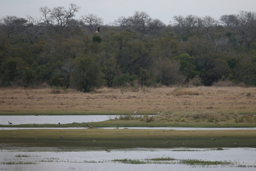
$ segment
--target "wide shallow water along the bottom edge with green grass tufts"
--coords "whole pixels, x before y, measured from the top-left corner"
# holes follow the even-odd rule
[[[98,151],[41,151],[41,149],[1,150],[0,170],[94,170],[94,171],[156,171],[156,170],[188,170],[189,171],[254,171],[256,149],[228,148],[214,149],[113,149],[109,153]],[[171,157],[177,160],[198,159],[207,161],[231,161],[231,165],[187,165],[187,164],[122,164],[114,159],[146,160],[152,158]],[[14,162],[13,164],[6,164]],[[21,164],[19,164],[21,163]],[[239,164],[254,167],[237,167]]]

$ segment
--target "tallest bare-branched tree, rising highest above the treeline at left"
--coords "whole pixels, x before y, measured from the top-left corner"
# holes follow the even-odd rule
[[[75,17],[75,12],[79,11],[79,6],[70,4],[68,9],[64,7],[40,7],[40,12],[43,15],[42,20],[54,30],[62,33],[63,29],[69,28],[69,21]]]

